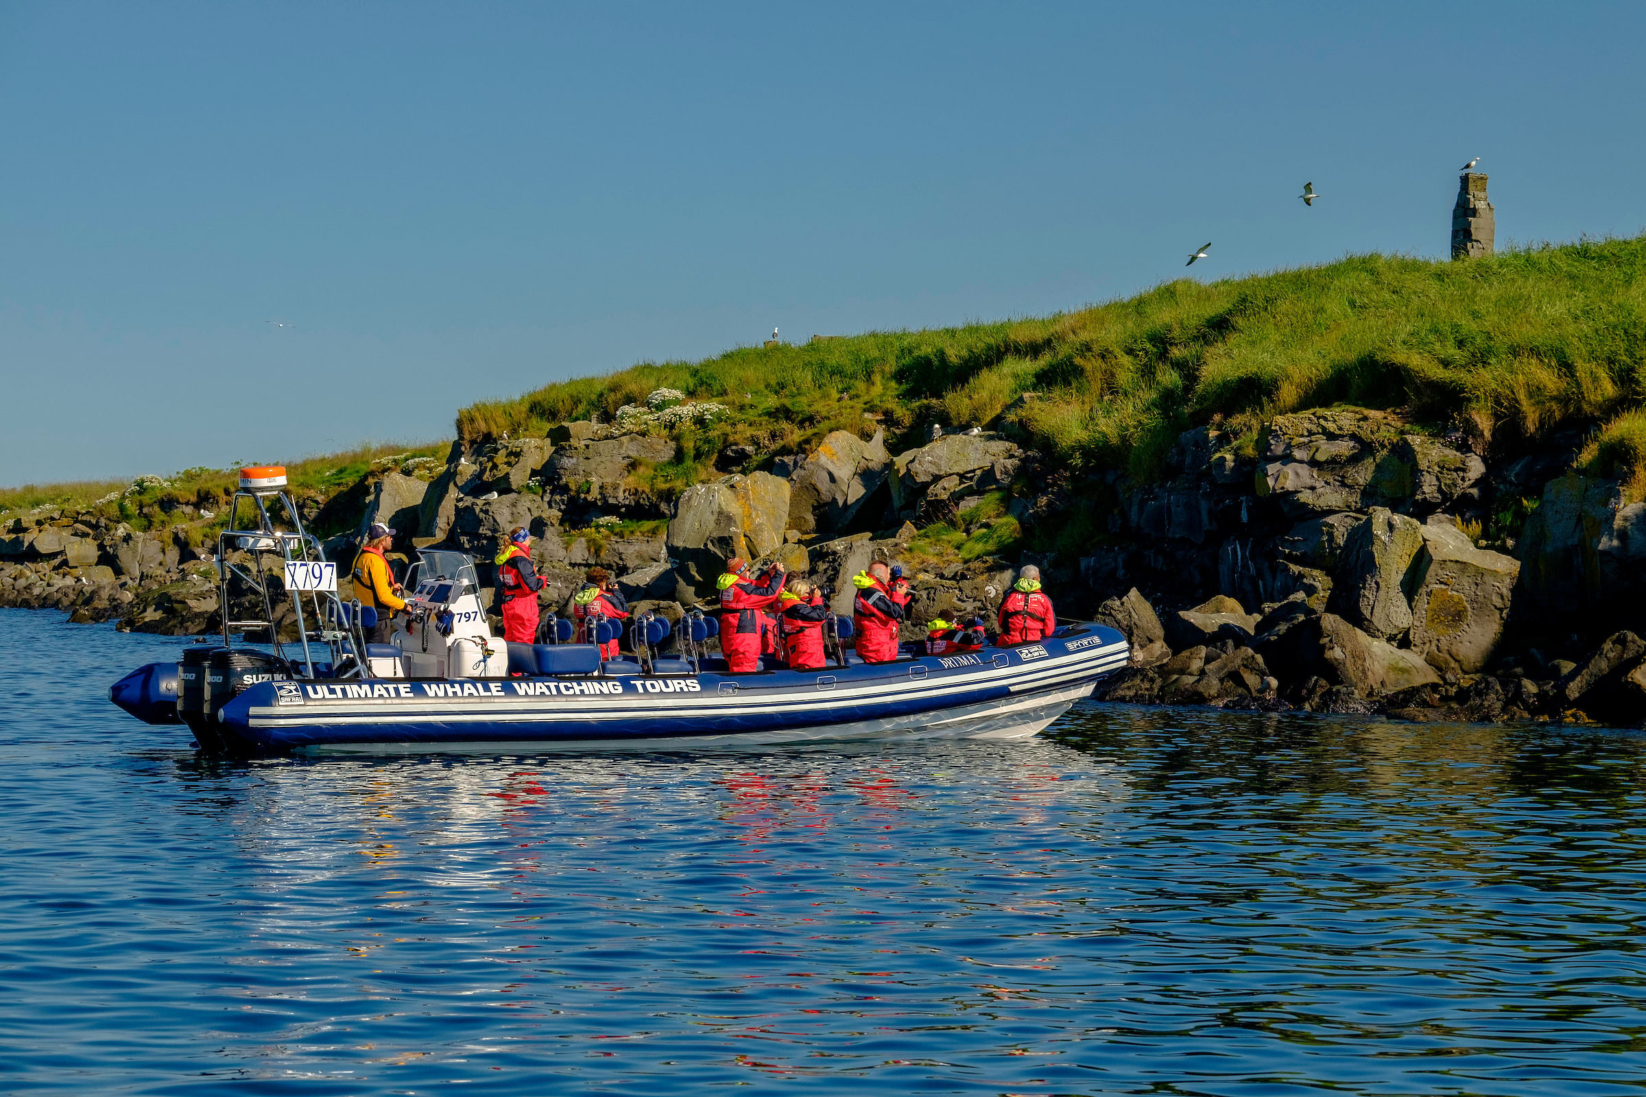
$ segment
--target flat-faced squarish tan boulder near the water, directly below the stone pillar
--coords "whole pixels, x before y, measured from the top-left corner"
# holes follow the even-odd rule
[[[1422,526],[1414,564],[1411,648],[1447,671],[1472,674],[1503,636],[1521,564],[1478,549],[1444,516]]]

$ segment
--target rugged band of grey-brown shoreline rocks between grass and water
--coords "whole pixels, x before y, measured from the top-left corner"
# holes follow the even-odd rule
[[[1187,431],[1164,479],[1134,480],[976,429],[899,449],[866,418],[802,452],[739,447],[714,462],[728,472],[660,487],[653,472],[681,442],[670,401],[649,406],[660,411],[453,444],[444,464],[390,462],[300,505],[356,531],[387,521],[403,556],[467,551],[487,581],[502,538],[527,526],[556,610],[601,564],[632,600],[678,617],[736,554],[810,572],[849,612],[851,574],[902,562],[907,638],[932,617],[989,613],[1011,567],[1032,561],[1063,615],[1132,640],[1114,699],[1646,717],[1631,632],[1646,610],[1646,505],[1572,470],[1579,434],[1493,454],[1399,411],[1333,406],[1256,434]],[[13,515],[0,602],[209,632],[216,518],[201,500],[137,521],[109,505]],[[351,538],[328,549],[347,562]]]

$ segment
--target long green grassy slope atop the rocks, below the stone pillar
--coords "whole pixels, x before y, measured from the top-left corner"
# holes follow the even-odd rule
[[[611,419],[658,386],[728,405],[693,449],[759,439],[767,454],[828,429],[930,423],[1016,431],[1075,467],[1155,474],[1207,423],[1258,442],[1277,413],[1407,408],[1485,437],[1536,437],[1646,398],[1646,237],[1467,263],[1358,255],[1042,319],[742,347],[546,385],[458,413],[464,439]],[[872,416],[864,419],[864,414]],[[775,429],[782,428],[782,429]]]

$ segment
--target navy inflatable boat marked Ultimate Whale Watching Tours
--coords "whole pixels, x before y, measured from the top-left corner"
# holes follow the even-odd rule
[[[275,521],[273,500],[285,503],[285,523]],[[255,516],[245,530],[234,528],[242,510]],[[716,620],[700,612],[680,622],[642,613],[625,630],[594,618],[583,635],[550,617],[542,630],[550,643],[507,643],[491,633],[474,562],[433,549],[407,576],[408,613],[393,643],[372,645],[372,610],[339,600],[336,564],[303,533],[283,469],[242,472],[229,526],[217,554],[221,646],[188,648],[179,663],[140,668],[109,691],[142,720],[186,724],[207,752],[1017,738],[1090,696],[1129,656],[1119,632],[1073,622],[1035,643],[864,663],[849,645],[851,620],[833,618],[825,623],[830,666],[792,671],[767,660],[734,674],[711,651]],[[275,636],[275,605],[285,602],[295,641],[234,643],[258,630]],[[230,620],[229,607],[245,605],[262,605],[263,617]],[[614,638],[627,638],[634,655],[602,660],[597,643]]]

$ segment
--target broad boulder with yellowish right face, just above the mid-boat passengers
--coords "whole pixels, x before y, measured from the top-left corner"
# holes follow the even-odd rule
[[[668,523],[668,554],[677,561],[681,589],[690,589],[693,599],[709,597],[729,558],[754,562],[775,553],[787,521],[788,480],[769,472],[686,488]]]

